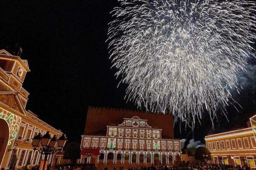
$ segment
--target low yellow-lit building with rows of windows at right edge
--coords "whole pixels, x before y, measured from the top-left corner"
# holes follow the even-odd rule
[[[211,163],[233,166],[250,165],[255,169],[256,142],[255,116],[247,122],[248,128],[209,135],[206,146],[211,153]]]

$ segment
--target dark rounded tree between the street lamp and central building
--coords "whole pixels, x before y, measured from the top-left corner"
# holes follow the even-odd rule
[[[71,142],[66,146],[63,159],[70,159],[71,163],[76,163],[80,159],[81,149],[79,143]]]

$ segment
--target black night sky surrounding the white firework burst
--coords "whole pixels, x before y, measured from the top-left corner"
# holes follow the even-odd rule
[[[30,93],[26,109],[49,125],[61,129],[68,140],[81,142],[88,106],[136,109],[124,100],[125,85],[119,86],[108,59],[109,14],[117,0],[1,1],[0,49],[18,43],[22,59],[31,72],[23,87]],[[229,121],[220,115],[211,129],[205,116],[194,134],[175,126],[175,136],[203,141],[210,132],[245,127],[256,113],[256,59],[248,72],[239,74],[240,95],[233,92],[237,111],[227,108]],[[216,120],[215,120],[216,121]],[[97,125],[95,125],[97,126]],[[194,136],[193,136],[194,135]]]

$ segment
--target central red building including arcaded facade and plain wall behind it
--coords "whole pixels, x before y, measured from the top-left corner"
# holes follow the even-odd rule
[[[173,117],[136,110],[89,107],[81,149],[79,162],[98,166],[173,165],[181,160]]]

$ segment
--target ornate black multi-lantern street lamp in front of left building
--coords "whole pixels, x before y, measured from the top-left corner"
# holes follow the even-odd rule
[[[51,138],[49,131],[47,131],[46,134],[43,135],[42,137],[41,137],[41,134],[38,133],[38,135],[36,135],[32,139],[32,146],[34,147],[34,150],[38,150],[40,154],[45,155],[43,170],[45,170],[45,163],[47,160],[47,156],[57,151],[62,151],[67,141],[68,140],[66,140],[66,136],[64,134],[60,136],[59,139],[57,139],[56,135],[54,135]],[[56,149],[57,144],[58,144],[58,149]],[[40,148],[37,149],[38,147]]]

